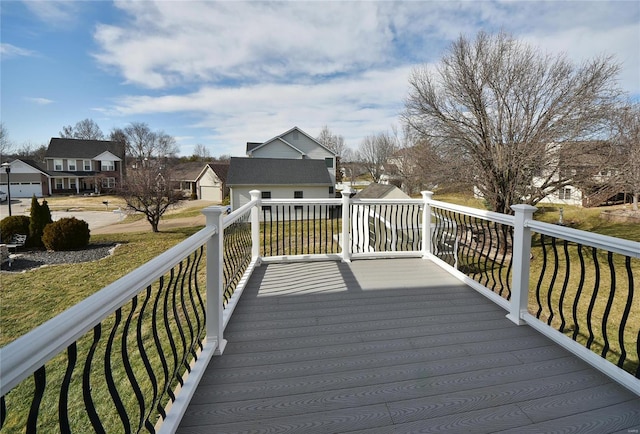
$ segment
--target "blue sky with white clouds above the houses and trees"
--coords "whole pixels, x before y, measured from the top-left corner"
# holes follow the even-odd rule
[[[91,118],[174,136],[181,155],[244,155],[248,141],[324,125],[357,148],[399,126],[408,77],[459,35],[506,31],[582,62],[611,54],[640,99],[640,2],[7,1],[0,117],[48,144]]]

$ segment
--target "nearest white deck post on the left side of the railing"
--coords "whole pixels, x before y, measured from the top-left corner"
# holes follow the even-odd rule
[[[215,355],[224,352],[227,341],[223,338],[223,267],[224,267],[224,212],[222,206],[202,210],[207,226],[217,226],[218,232],[207,241],[207,341],[216,346]]]

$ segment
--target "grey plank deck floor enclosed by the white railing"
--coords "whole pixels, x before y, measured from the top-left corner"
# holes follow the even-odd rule
[[[263,265],[179,433],[638,433],[640,397],[429,261]]]

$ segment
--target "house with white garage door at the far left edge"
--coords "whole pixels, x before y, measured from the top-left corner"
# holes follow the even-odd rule
[[[9,162],[11,197],[43,197],[51,194],[50,175],[33,160],[15,159]],[[0,190],[7,193],[7,173],[0,169]]]

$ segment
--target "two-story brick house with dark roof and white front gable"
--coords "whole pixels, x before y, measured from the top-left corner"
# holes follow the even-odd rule
[[[124,145],[110,140],[54,137],[45,154],[51,193],[100,193],[120,184],[125,171]]]

